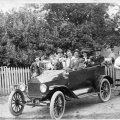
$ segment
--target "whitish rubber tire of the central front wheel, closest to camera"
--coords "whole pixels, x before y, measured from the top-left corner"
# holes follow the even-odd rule
[[[55,99],[56,99],[56,97],[57,97],[58,95],[62,95],[63,100],[64,100],[64,106],[63,106],[63,113],[60,115],[59,118],[56,118],[56,117],[54,116],[54,102],[55,102]],[[52,96],[52,98],[51,98],[51,102],[50,102],[50,116],[51,116],[52,119],[54,119],[54,120],[59,120],[59,119],[62,118],[62,116],[63,116],[63,114],[64,114],[64,111],[65,111],[65,103],[66,103],[66,101],[65,101],[64,94],[63,94],[61,91],[56,91],[56,92],[53,94],[53,96]]]

